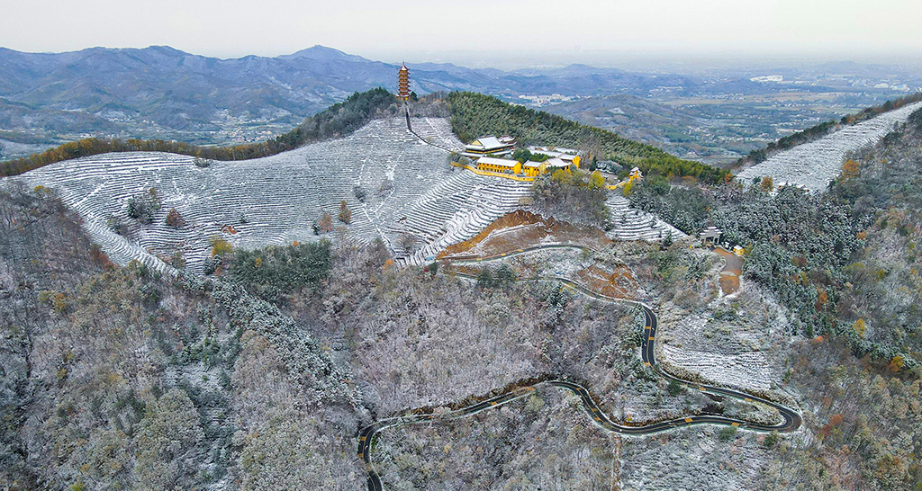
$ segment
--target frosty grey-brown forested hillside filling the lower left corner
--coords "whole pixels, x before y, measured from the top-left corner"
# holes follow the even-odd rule
[[[46,190],[0,189],[0,218],[0,488],[361,486],[358,392],[302,324],[112,264]]]

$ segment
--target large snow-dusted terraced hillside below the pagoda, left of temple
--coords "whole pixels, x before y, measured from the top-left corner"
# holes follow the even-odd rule
[[[446,120],[414,118],[412,125],[423,140],[461,147]],[[137,259],[164,271],[169,267],[158,257],[174,251],[183,252],[187,269],[200,271],[215,236],[247,249],[317,240],[313,223],[324,211],[336,217],[343,199],[352,210],[348,240],[380,238],[401,263],[420,263],[512,211],[530,185],[449,166],[445,150],[409,133],[402,118],[376,120],[349,137],[269,158],[199,168],[193,158],[173,154],[105,154],[13,181],[54,189],[113,261]],[[150,188],[162,207],[153,223],[141,225],[126,217],[128,201]],[[357,188],[365,191],[364,202]],[[185,227],[165,224],[171,208]],[[107,226],[111,216],[127,225],[124,237]],[[399,240],[405,234],[415,243]]]

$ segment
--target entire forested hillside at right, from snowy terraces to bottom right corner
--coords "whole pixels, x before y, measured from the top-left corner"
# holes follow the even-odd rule
[[[745,245],[745,278],[774,292],[791,312],[791,334],[804,338],[787,355],[785,383],[804,397],[815,439],[783,443],[766,470],[783,480],[760,487],[918,488],[920,181],[916,111],[846,160],[828,193],[770,193],[771,182],[670,187],[654,179],[635,187],[633,205],[687,232],[713,223]]]

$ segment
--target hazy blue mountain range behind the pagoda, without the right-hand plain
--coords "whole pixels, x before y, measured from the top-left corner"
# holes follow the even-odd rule
[[[585,65],[516,72],[454,64],[409,66],[420,94],[474,90],[517,99],[526,94],[645,96],[657,88],[690,95],[763,90],[748,79],[715,87],[690,76]],[[392,88],[396,68],[324,46],[275,58],[236,59],[168,46],[73,53],[0,48],[0,128],[49,140],[78,134],[175,137],[193,143],[260,139],[301,123],[354,91]]]

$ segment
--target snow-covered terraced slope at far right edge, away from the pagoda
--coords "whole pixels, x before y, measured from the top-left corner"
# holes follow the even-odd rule
[[[741,170],[737,179],[746,183],[754,178],[771,176],[775,185],[788,183],[804,186],[810,191],[822,191],[829,185],[829,181],[839,175],[847,152],[876,144],[885,134],[890,133],[895,124],[904,123],[918,109],[922,109],[922,102],[846,126],[819,140],[795,146],[775,154],[761,164]]]

